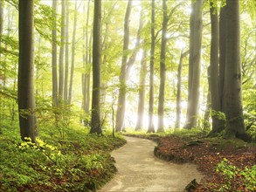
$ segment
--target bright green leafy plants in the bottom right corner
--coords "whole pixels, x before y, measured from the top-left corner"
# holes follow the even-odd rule
[[[224,159],[216,168],[216,171],[225,176],[225,185],[219,191],[254,191],[256,186],[256,165],[252,168],[237,168],[227,159]],[[240,189],[242,183],[243,189]]]

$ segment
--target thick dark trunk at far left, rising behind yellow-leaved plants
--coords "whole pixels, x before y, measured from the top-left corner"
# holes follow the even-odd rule
[[[37,119],[34,97],[34,1],[18,2],[18,112],[21,139],[36,141]]]

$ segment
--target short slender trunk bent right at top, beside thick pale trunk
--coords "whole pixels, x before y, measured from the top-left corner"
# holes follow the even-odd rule
[[[175,127],[180,127],[180,117],[181,117],[181,86],[182,86],[182,68],[183,68],[183,58],[186,57],[189,54],[189,51],[183,52],[181,51],[181,56],[179,60],[179,65],[177,68],[177,83],[176,83],[176,122]]]

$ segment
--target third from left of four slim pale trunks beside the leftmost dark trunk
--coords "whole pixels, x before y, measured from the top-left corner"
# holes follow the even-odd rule
[[[66,104],[68,104],[68,67],[69,67],[69,36],[68,36],[68,30],[69,30],[69,6],[68,6],[68,0],[66,0],[66,24],[65,24],[65,77],[64,77],[64,101]]]

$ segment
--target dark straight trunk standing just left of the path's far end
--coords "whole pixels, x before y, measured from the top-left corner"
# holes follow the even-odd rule
[[[90,133],[101,134],[100,125],[100,62],[101,62],[101,0],[94,1],[93,15],[93,101]]]

